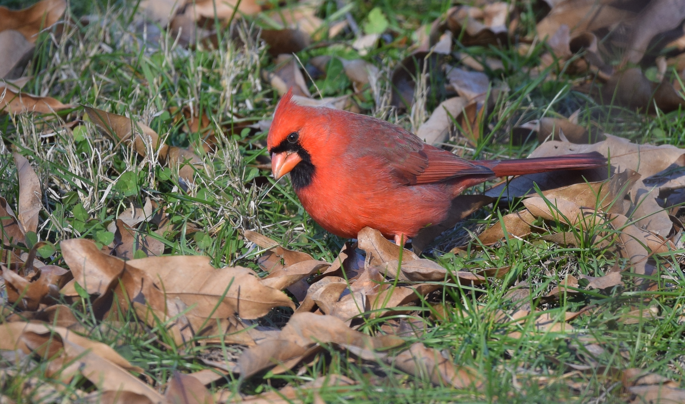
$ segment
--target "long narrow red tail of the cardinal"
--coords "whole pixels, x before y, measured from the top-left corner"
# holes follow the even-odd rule
[[[583,168],[601,167],[606,165],[606,157],[599,152],[566,154],[554,157],[534,157],[532,159],[515,160],[477,160],[476,165],[482,165],[495,172],[495,176],[517,176],[547,172],[555,170],[581,170]]]

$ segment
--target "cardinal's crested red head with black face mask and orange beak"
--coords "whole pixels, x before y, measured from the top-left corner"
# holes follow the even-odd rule
[[[308,150],[316,150],[319,133],[316,133],[316,109],[297,105],[292,90],[281,98],[266,139],[271,154],[271,172],[276,179],[290,173],[295,189],[306,187],[314,174],[314,165]]]

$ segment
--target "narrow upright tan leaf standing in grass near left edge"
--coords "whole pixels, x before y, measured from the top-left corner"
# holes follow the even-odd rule
[[[26,232],[38,230],[38,213],[42,209],[40,179],[31,163],[19,153],[12,153],[19,180],[17,218]]]

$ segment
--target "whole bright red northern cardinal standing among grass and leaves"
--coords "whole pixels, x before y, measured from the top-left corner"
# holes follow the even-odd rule
[[[302,206],[323,228],[354,238],[369,226],[406,241],[447,217],[464,189],[496,177],[606,165],[599,153],[467,161],[390,124],[280,100],[266,147],[276,179],[290,173]]]

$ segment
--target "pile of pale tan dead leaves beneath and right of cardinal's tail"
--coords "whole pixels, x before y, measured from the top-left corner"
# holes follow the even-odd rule
[[[675,250],[674,241],[679,241],[682,233],[678,212],[685,200],[678,190],[684,178],[685,150],[638,145],[606,135],[606,140],[595,144],[546,142],[531,157],[591,151],[610,159],[611,178],[604,179],[608,170],[598,168],[568,175],[555,172],[519,176],[508,185],[494,187],[486,194],[525,197],[525,209],[502,217],[482,232],[479,240],[484,245],[493,245],[506,238],[527,237],[546,231],[536,226],[538,219],[553,221],[568,225],[569,231],[547,234],[542,239],[561,245],[608,249],[630,263],[622,269],[616,267],[616,271],[630,269],[638,275],[658,275],[658,254]],[[595,182],[584,183],[584,178]],[[534,192],[534,183],[543,196]],[[604,282],[609,276],[614,275],[608,273],[590,284],[614,286],[621,282],[620,277]]]

